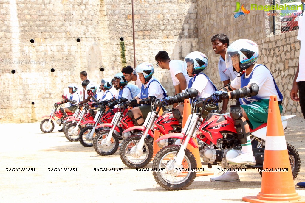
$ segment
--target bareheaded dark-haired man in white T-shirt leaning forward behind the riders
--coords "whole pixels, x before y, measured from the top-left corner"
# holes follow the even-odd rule
[[[175,95],[181,93],[182,90],[188,87],[188,82],[191,78],[186,71],[186,64],[185,67],[183,67],[183,61],[170,60],[166,51],[159,51],[155,60],[157,61],[157,66],[170,71],[175,88]],[[177,105],[178,103],[174,103],[173,107],[176,107]]]

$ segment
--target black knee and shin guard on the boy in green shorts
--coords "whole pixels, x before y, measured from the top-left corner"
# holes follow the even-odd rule
[[[249,133],[246,133],[245,125],[247,121],[242,121],[242,109],[239,106],[232,105],[230,107],[230,116],[234,119],[234,126],[236,128],[237,137],[240,140],[241,144],[247,143],[247,136]]]

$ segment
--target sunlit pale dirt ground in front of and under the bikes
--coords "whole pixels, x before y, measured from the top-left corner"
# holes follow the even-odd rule
[[[301,170],[294,183],[305,181],[304,119],[291,118],[285,130],[286,142],[296,147]],[[0,124],[2,138],[12,142],[0,144],[0,202],[241,202],[242,197],[260,192],[261,177],[257,170],[240,172],[239,183],[212,183],[210,177],[196,177],[184,191],[166,191],[152,172],[127,168],[117,151],[99,156],[93,148],[69,142],[56,125],[44,134],[39,123]],[[303,142],[304,141],[304,142]],[[35,168],[35,171],[6,171],[6,168]],[[77,168],[77,171],[48,171],[48,168]],[[98,172],[94,168],[123,168],[119,172]],[[151,168],[151,163],[146,167]],[[206,166],[204,166],[207,169]],[[277,184],[277,183],[270,183]],[[305,188],[296,187],[305,197]]]

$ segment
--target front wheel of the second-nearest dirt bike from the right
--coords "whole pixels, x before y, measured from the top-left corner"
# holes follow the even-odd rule
[[[147,139],[144,140],[142,156],[139,158],[131,156],[131,148],[135,146],[140,139],[141,135],[131,135],[126,138],[124,142],[122,142],[122,145],[120,147],[120,158],[122,162],[132,169],[144,168],[150,163],[152,159],[152,144]]]

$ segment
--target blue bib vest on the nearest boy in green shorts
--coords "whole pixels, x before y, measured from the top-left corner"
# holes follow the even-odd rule
[[[260,65],[257,65],[255,68],[257,68],[258,66],[261,66],[262,64]],[[265,65],[262,65],[262,66],[265,66]],[[266,67],[266,66],[265,66]],[[252,75],[253,75],[253,72],[255,70],[255,68],[253,69],[253,71],[251,72],[251,75],[249,78],[245,78],[245,75],[246,74],[242,74],[242,76],[240,77],[240,87],[245,87],[245,86],[248,86],[249,85],[249,82],[250,82],[250,79],[252,78]],[[266,67],[267,68],[267,67]],[[267,68],[268,69],[268,68]],[[268,69],[269,71],[269,69]],[[270,72],[270,71],[269,71]],[[270,72],[271,74],[271,72]],[[280,90],[278,89],[278,86],[276,85],[275,81],[274,81],[274,78],[273,78],[273,75],[271,74],[272,76],[272,79],[273,79],[273,82],[274,82],[274,86],[275,86],[275,89],[278,93],[278,96],[280,97],[279,99],[281,100],[281,103],[282,103],[282,100],[283,100],[283,95],[282,93],[280,92]],[[252,102],[255,102],[255,101],[259,101],[259,100],[262,100],[262,98],[258,97],[258,96],[251,96],[251,97],[247,97],[247,98],[239,98],[239,102],[240,104],[249,104],[249,103],[252,103]]]

